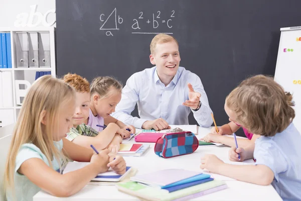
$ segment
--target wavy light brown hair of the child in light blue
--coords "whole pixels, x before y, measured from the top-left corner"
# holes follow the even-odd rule
[[[295,117],[292,95],[264,75],[242,81],[226,97],[226,105],[236,113],[241,126],[262,136],[282,132]]]

